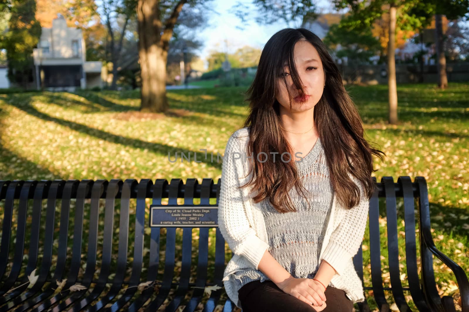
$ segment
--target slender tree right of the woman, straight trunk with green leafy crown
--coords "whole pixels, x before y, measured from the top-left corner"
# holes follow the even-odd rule
[[[350,15],[340,21],[340,27],[348,29],[367,29],[389,14],[387,41],[387,77],[389,99],[389,123],[396,124],[397,116],[397,82],[395,64],[395,42],[397,30],[412,30],[421,27],[423,17],[410,15],[409,11],[417,5],[418,0],[334,0],[338,9],[349,8]]]

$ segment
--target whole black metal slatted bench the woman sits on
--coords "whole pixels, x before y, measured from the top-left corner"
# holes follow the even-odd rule
[[[166,311],[176,311],[180,306],[185,306],[185,312],[201,311],[202,306],[203,311],[214,311],[217,305],[222,305],[223,311],[232,311],[235,306],[229,299],[225,300],[227,296],[223,289],[213,290],[210,297],[204,298],[204,287],[223,287],[221,280],[229,260],[217,220],[193,225],[195,221],[172,217],[166,210],[148,214],[145,201],[152,199],[151,208],[158,208],[166,204],[162,204],[162,199],[167,198],[167,207],[174,209],[177,199],[184,198],[184,204],[176,208],[191,210],[205,206],[216,212],[217,204],[210,205],[210,198],[212,201],[216,198],[218,203],[219,183],[220,180],[214,184],[212,179],[204,179],[201,184],[196,179],[188,179],[186,184],[181,179],[173,179],[169,184],[160,179],[155,183],[147,179],[140,182],[0,181],[0,311],[156,311],[162,305],[166,305]],[[364,289],[373,290],[379,310],[389,311],[384,291],[391,290],[400,311],[411,311],[404,292],[410,292],[419,311],[455,311],[453,297],[439,297],[433,271],[432,255],[435,255],[454,272],[461,293],[462,311],[469,311],[467,276],[433,244],[424,178],[417,177],[412,182],[409,177],[400,177],[394,182],[393,178],[385,177],[377,185],[378,192],[371,199],[369,214],[371,285],[365,284]],[[383,286],[378,197],[384,197],[386,203],[391,287]],[[200,205],[193,204],[194,198],[200,198]],[[399,200],[403,200],[403,209],[396,208]],[[32,207],[29,207],[31,203]],[[100,212],[100,209],[104,211]],[[56,218],[57,211],[60,220]],[[161,213],[169,213],[169,219],[178,219],[173,225],[154,226],[162,221],[150,220],[150,217],[162,216]],[[405,220],[408,287],[403,287],[400,279],[398,214],[403,214]],[[202,220],[212,217],[213,211]],[[193,219],[197,220],[196,217]],[[104,228],[100,230],[103,220]],[[135,225],[129,226],[129,221]],[[71,222],[73,229],[69,229]],[[153,222],[151,227],[150,222]],[[420,263],[416,253],[416,225]],[[40,237],[41,226],[44,238]],[[176,231],[181,227],[182,242]],[[196,239],[197,251],[192,248],[193,228],[200,230]],[[214,242],[210,241],[213,238],[209,231],[215,231],[212,233]],[[102,244],[98,244],[101,241]],[[116,245],[117,253],[113,248]],[[116,254],[117,259],[113,257]],[[161,254],[165,255],[164,259]],[[42,261],[39,261],[41,257]],[[354,264],[363,279],[362,248],[354,257]],[[53,272],[50,272],[51,266],[55,266]],[[38,280],[30,287],[28,276],[36,268]],[[56,292],[56,280],[60,282],[65,278],[67,281],[61,292]],[[69,290],[76,283],[86,290]],[[172,289],[175,290],[170,294]],[[186,298],[191,290],[191,297]],[[358,307],[360,311],[370,311],[366,301]]]

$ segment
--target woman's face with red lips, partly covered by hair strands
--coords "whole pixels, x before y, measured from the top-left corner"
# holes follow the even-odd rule
[[[277,83],[280,92],[277,94],[276,98],[281,106],[287,111],[290,111],[289,92],[292,97],[291,112],[302,112],[312,109],[319,102],[324,90],[325,76],[318,51],[316,51],[316,48],[308,41],[298,41],[295,44],[294,56],[296,71],[300,76],[300,80],[304,86],[304,93],[307,96],[303,99],[296,98],[299,94],[299,90],[296,89],[293,84],[293,80],[288,71],[288,65],[284,64],[282,75],[284,75],[285,80],[287,80],[287,87],[285,87],[283,78],[278,77]]]

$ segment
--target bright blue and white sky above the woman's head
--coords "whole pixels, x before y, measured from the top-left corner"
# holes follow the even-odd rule
[[[209,25],[198,35],[198,37],[205,42],[205,46],[199,53],[202,59],[208,56],[210,50],[233,53],[236,49],[244,45],[262,49],[267,40],[280,29],[286,27],[300,27],[297,22],[296,25],[295,22],[291,22],[290,25],[287,25],[285,21],[281,20],[272,25],[258,25],[254,21],[254,18],[251,18],[247,25],[243,25],[242,21],[230,10],[236,2],[237,1],[232,0],[211,1],[213,10],[219,14],[217,15],[210,12],[208,18]],[[255,7],[251,4],[250,0],[242,0],[240,2],[251,7],[252,12],[255,12]],[[330,11],[332,5],[328,0],[318,0],[318,7]],[[236,26],[242,26],[244,29],[238,29]],[[227,40],[227,44],[225,40]],[[205,67],[207,67],[207,64],[205,64]]]

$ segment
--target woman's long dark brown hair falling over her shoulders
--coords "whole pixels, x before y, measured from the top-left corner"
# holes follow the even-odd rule
[[[246,92],[245,101],[250,102],[249,116],[243,125],[250,132],[246,152],[254,155],[254,160],[260,152],[279,152],[279,155],[289,152],[293,155],[293,149],[280,128],[280,103],[276,100],[280,90],[277,80],[286,62],[295,90],[298,90],[300,96],[305,94],[294,60],[295,44],[301,40],[310,42],[321,58],[326,80],[324,93],[314,108],[314,122],[324,146],[331,185],[340,203],[352,208],[360,201],[360,189],[349,174],[362,183],[365,196],[371,198],[375,188],[371,173],[376,171],[373,170],[372,155],[382,160],[385,154],[371,147],[363,138],[362,119],[343,86],[339,69],[327,46],[310,30],[281,29],[265,44],[256,76]],[[287,86],[285,79],[284,81]],[[288,96],[291,107],[292,96]],[[250,162],[249,172],[254,170],[254,174],[241,187],[253,186],[251,194],[257,193],[253,197],[255,203],[269,198],[272,206],[279,212],[296,211],[288,195],[289,190],[295,186],[303,197],[306,196],[294,161],[262,161]]]

